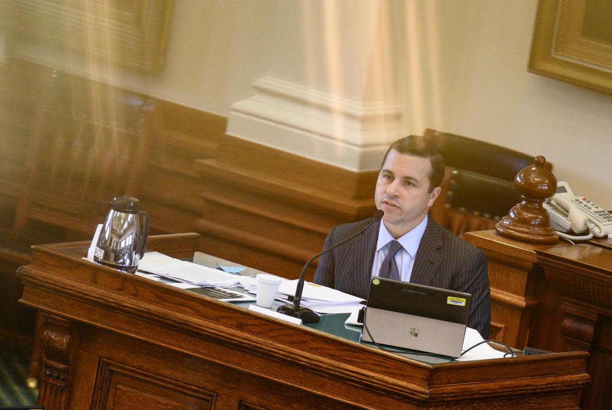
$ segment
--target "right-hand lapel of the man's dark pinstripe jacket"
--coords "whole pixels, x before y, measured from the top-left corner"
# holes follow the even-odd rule
[[[438,224],[431,217],[427,220],[425,232],[421,238],[410,281],[420,285],[429,285],[442,262],[442,239]]]

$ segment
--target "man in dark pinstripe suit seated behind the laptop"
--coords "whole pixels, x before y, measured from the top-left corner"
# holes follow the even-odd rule
[[[430,141],[411,135],[391,144],[375,191],[383,223],[374,223],[323,255],[315,283],[364,299],[373,276],[471,293],[468,326],[487,339],[491,321],[487,258],[427,217],[443,177],[444,160]],[[369,221],[335,226],[323,248],[359,232]]]

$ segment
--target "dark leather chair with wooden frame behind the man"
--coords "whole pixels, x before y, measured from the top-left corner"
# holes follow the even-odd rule
[[[446,164],[442,193],[430,215],[458,236],[493,229],[521,196],[513,181],[535,156],[466,136],[425,130]],[[552,169],[547,163],[549,170]]]

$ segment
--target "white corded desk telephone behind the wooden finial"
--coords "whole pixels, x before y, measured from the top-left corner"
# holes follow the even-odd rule
[[[612,234],[612,214],[585,196],[575,196],[565,181],[557,182],[557,193],[547,199],[543,206],[550,215],[554,229],[561,237],[586,240],[593,236],[603,237]],[[584,235],[568,235],[569,232],[584,233]]]

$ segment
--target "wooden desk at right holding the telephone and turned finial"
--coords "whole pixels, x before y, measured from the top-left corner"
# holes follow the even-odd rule
[[[506,343],[591,353],[583,409],[612,408],[612,240],[533,245],[496,231],[466,234],[487,254],[491,320]],[[507,294],[506,298],[499,297]],[[505,300],[523,301],[512,311]]]

